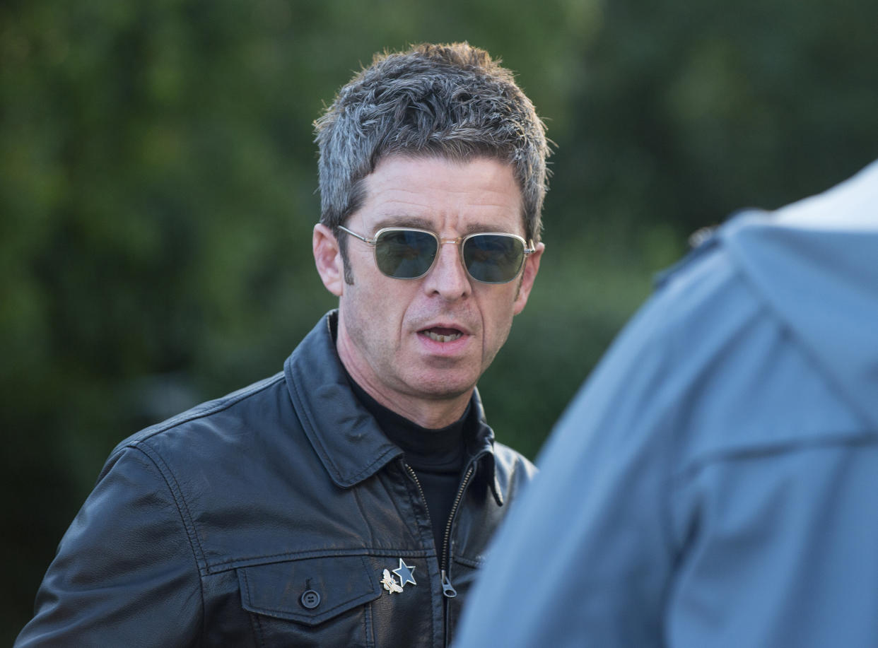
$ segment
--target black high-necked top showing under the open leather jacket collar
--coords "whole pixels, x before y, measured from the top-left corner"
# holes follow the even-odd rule
[[[464,440],[471,425],[470,407],[447,428],[421,428],[378,403],[350,376],[348,380],[357,400],[375,417],[385,436],[405,452],[405,461],[421,482],[427,500],[436,551],[443,551],[445,527],[464,469]]]

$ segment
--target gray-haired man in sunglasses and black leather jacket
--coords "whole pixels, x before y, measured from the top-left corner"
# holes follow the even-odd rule
[[[317,122],[337,311],[284,371],[113,451],[18,645],[441,646],[534,469],[475,385],[539,268],[548,153],[464,44],[379,56]]]

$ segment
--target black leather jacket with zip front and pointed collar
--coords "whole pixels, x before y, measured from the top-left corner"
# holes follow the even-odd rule
[[[350,392],[334,324],[329,313],[277,376],[119,444],[16,645],[450,642],[534,467],[493,443],[474,394],[479,434],[437,551],[414,472]]]

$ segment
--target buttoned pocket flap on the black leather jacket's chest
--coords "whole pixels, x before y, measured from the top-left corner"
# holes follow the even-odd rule
[[[241,604],[256,614],[307,625],[374,601],[381,588],[363,556],[303,558],[238,570]]]

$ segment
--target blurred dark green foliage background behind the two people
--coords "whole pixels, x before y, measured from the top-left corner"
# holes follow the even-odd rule
[[[113,446],[279,371],[334,306],[311,122],[373,52],[485,47],[558,144],[536,290],[479,387],[534,457],[688,234],[878,157],[874,25],[871,0],[7,0],[0,641]]]

